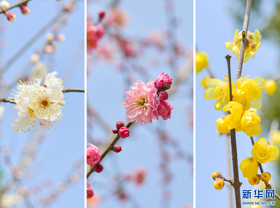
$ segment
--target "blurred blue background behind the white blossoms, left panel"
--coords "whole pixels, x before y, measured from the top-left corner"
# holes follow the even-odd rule
[[[17,3],[10,0],[10,5]],[[84,2],[30,1],[0,14],[0,98],[11,97],[19,79],[44,79],[57,71],[66,88],[84,89]],[[51,38],[54,34],[54,38]],[[49,39],[49,41],[47,41]],[[39,60],[31,60],[31,54]],[[42,82],[43,83],[43,82]],[[84,207],[84,93],[64,93],[55,130],[16,134],[14,104],[0,103],[0,207]]]

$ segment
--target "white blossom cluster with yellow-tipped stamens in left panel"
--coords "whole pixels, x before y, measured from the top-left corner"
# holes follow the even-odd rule
[[[40,86],[41,79],[34,78],[34,82],[17,84],[17,91],[12,93],[15,98],[15,107],[18,117],[12,121],[12,129],[16,133],[36,131],[35,122],[41,127],[53,127],[53,124],[62,118],[62,105],[65,104],[62,90],[63,80],[57,78],[57,72],[46,73],[44,85]]]

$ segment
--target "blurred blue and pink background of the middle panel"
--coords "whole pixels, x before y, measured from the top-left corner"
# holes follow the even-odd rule
[[[138,80],[168,73],[174,107],[171,119],[129,128],[116,143],[122,151],[109,152],[104,170],[89,176],[87,207],[192,207],[193,2],[90,0],[87,18],[88,27],[105,30],[95,47],[88,44],[87,143],[102,154],[116,122],[127,124],[122,103]]]

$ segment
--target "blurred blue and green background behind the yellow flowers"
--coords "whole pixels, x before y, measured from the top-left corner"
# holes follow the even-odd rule
[[[279,5],[279,1],[252,1],[248,30],[254,32],[255,29],[258,29],[262,38],[260,47],[256,52],[256,58],[250,58],[247,63],[243,64],[241,76],[249,74],[251,79],[262,77],[266,81],[271,78],[279,80],[277,78],[280,73]],[[223,80],[223,75],[227,75],[227,61],[224,57],[229,54],[232,56],[232,80],[235,80],[236,55],[227,50],[225,42],[233,40],[235,30],[242,30],[245,8],[245,0],[231,2],[220,0],[196,1],[196,46],[199,51],[208,54],[208,67],[214,78]],[[235,207],[234,190],[229,186],[229,183],[225,183],[222,190],[216,190],[213,187],[214,181],[211,174],[215,171],[219,171],[225,178],[233,179],[232,159],[231,151],[228,150],[230,139],[225,135],[217,134],[216,120],[223,116],[224,112],[214,109],[213,99],[206,100],[204,98],[206,89],[202,86],[201,81],[205,77],[210,77],[206,68],[196,74],[196,207]],[[257,109],[257,113],[262,120],[262,131],[260,135],[253,138],[257,141],[258,138],[265,137],[279,150],[279,131],[275,130],[278,129],[280,118],[280,91],[279,82],[276,83],[278,89],[273,95],[268,95],[262,89],[262,107]],[[250,138],[244,132],[237,132],[236,138],[238,162],[240,164],[241,160],[251,157],[252,144]],[[263,164],[262,167],[264,171],[271,173],[269,183],[276,193],[279,193],[279,157]],[[252,189],[253,193],[253,190],[264,189],[265,187],[262,181],[259,185],[251,186],[247,178],[243,178],[240,169],[239,179],[243,183],[241,193],[242,189]],[[203,200],[199,200],[202,194]],[[252,200],[256,201],[256,198]],[[261,198],[260,201],[265,201],[265,198]],[[276,207],[279,207],[279,201],[275,201]]]

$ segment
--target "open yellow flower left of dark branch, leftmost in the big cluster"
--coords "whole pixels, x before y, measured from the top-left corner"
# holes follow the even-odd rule
[[[230,88],[228,77],[223,76],[224,81],[220,79],[208,79],[206,81],[206,86],[208,89],[204,93],[204,98],[207,100],[216,99],[214,103],[215,110],[222,111],[223,106],[227,105],[230,101]],[[235,89],[234,82],[232,83],[232,89]]]

